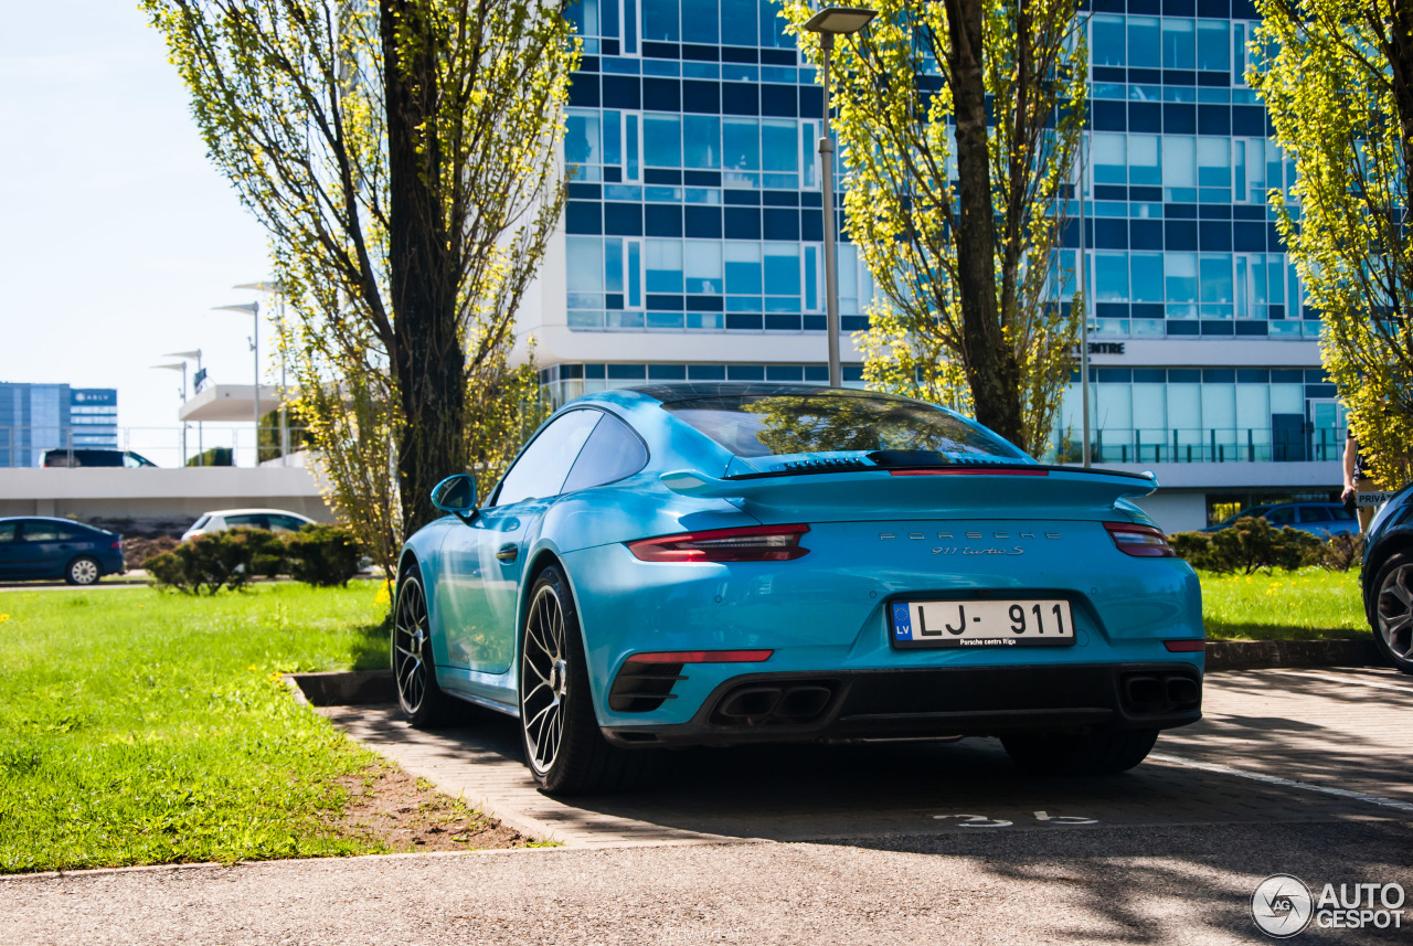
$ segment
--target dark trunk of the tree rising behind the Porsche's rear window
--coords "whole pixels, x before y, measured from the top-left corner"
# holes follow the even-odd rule
[[[986,143],[986,85],[982,73],[981,0],[945,0],[947,68],[957,114],[957,273],[965,330],[965,369],[976,419],[1020,443],[1020,395],[1005,370],[1007,345],[996,308],[996,217]],[[1012,377],[1007,378],[1007,374]]]

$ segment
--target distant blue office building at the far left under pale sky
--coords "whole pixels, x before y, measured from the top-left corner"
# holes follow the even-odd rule
[[[58,448],[117,449],[117,390],[0,381],[0,467]]]

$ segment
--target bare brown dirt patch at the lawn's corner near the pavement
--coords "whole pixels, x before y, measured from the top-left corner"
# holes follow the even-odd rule
[[[524,847],[528,837],[504,827],[430,782],[396,765],[345,775],[348,806],[329,827],[345,836],[376,839],[394,851],[466,851]]]

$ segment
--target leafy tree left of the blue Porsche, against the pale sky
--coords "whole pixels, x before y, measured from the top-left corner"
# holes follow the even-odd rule
[[[578,44],[531,0],[141,6],[270,234],[297,407],[338,511],[386,563],[437,515],[431,487],[519,431],[487,398],[524,383],[507,356],[564,206]]]

